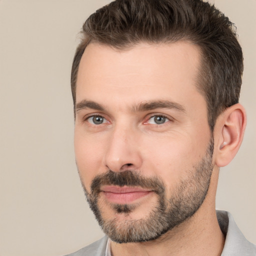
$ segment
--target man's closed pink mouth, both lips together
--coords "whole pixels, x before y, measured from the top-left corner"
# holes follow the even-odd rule
[[[144,189],[141,187],[120,187],[113,185],[102,186],[100,191],[109,202],[118,204],[131,203],[153,192],[152,190]]]

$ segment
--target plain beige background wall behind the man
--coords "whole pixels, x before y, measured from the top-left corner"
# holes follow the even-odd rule
[[[107,0],[0,0],[0,255],[51,256],[102,236],[73,153],[70,67],[78,31]],[[238,27],[244,142],[222,168],[217,208],[256,243],[256,0],[215,0]]]

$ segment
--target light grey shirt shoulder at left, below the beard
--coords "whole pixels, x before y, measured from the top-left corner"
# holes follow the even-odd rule
[[[104,236],[100,240],[97,240],[88,246],[85,246],[73,253],[65,256],[104,256],[106,250],[107,237]]]

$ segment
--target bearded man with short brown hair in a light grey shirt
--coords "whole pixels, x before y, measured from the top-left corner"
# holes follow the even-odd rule
[[[82,35],[75,158],[106,236],[69,255],[256,255],[215,211],[246,124],[232,23],[201,0],[116,0]]]

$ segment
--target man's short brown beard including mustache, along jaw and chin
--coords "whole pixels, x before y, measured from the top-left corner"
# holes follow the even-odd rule
[[[143,242],[154,240],[173,227],[191,217],[204,201],[212,173],[213,139],[211,139],[205,155],[173,188],[170,197],[165,193],[164,182],[157,176],[145,177],[135,170],[120,172],[107,171],[95,176],[90,185],[90,193],[82,186],[87,201],[102,231],[117,243]],[[111,219],[105,219],[105,209],[100,204],[100,187],[102,185],[132,186],[150,189],[157,195],[157,202],[144,218],[121,219],[120,214],[128,216],[139,204],[111,203],[115,212]]]

